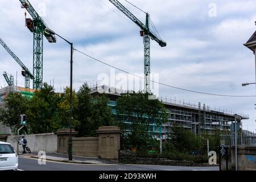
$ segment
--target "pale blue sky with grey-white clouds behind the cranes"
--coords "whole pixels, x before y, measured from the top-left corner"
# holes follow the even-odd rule
[[[32,72],[33,35],[25,27],[24,9],[18,0],[1,0],[0,37]],[[48,27],[63,36],[74,47],[114,67],[143,76],[143,39],[139,27],[108,0],[30,0]],[[256,95],[253,52],[243,46],[256,30],[255,0],[119,0],[141,22],[150,14],[160,37],[167,43],[160,47],[151,40],[151,73],[163,84],[197,92],[236,96]],[[27,18],[31,18],[27,13]],[[152,26],[151,26],[152,30]],[[57,38],[48,43],[44,38],[43,81],[53,84],[57,92],[69,85],[70,47]],[[24,86],[19,65],[2,47],[0,72],[14,75],[14,82]],[[16,72],[18,75],[16,76]],[[113,77],[113,73],[115,76]],[[101,83],[102,76],[125,88],[119,79],[129,75],[115,71],[74,51],[73,88],[84,82]],[[112,75],[111,75],[112,74]],[[17,77],[17,79],[16,79]],[[0,76],[0,88],[7,86]],[[32,86],[32,83],[31,83]],[[113,86],[113,81],[110,82]],[[122,86],[122,87],[121,87]],[[143,86],[143,85],[142,85]],[[221,97],[187,92],[159,85],[160,97],[181,100],[210,108],[249,115],[243,129],[256,131],[256,97]]]

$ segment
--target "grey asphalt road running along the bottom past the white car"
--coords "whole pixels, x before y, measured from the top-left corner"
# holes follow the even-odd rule
[[[19,157],[20,170],[24,171],[218,171],[218,167],[181,167],[135,164],[69,164],[48,161],[39,165],[38,159]]]

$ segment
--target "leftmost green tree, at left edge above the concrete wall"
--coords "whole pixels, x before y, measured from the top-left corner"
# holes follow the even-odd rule
[[[4,101],[6,107],[0,109],[0,121],[16,133],[20,127],[20,114],[26,114],[27,98],[20,93],[9,93]]]

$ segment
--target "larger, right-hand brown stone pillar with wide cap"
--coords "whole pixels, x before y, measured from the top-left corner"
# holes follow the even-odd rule
[[[97,130],[98,158],[118,161],[121,130],[117,126],[102,126]]]

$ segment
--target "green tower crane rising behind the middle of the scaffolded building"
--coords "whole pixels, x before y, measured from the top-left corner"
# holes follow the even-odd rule
[[[135,24],[141,28],[141,36],[143,36],[144,42],[144,90],[147,93],[150,91],[150,38],[155,40],[161,47],[166,47],[167,44],[154,32],[150,31],[149,20],[150,15],[146,13],[146,25],[143,24],[138,18],[136,18],[129,10],[126,9],[120,2],[117,0],[109,0],[115,7],[117,7],[123,14],[130,18]]]

